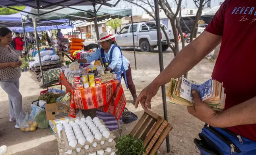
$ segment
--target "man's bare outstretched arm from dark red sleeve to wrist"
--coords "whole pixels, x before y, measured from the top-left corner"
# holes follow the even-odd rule
[[[198,38],[182,49],[172,62],[155,78],[153,83],[165,85],[171,78],[177,78],[191,70],[209,54],[221,41],[221,36],[203,32]]]

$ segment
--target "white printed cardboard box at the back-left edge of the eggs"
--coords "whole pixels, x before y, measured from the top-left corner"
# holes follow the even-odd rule
[[[84,117],[84,115],[82,115],[81,117]],[[80,119],[79,115],[76,115],[76,118],[68,116],[60,119],[50,120],[49,125],[50,125],[50,130],[52,134],[55,136],[55,134],[57,133],[57,124],[63,123],[63,122],[75,121],[76,119]]]

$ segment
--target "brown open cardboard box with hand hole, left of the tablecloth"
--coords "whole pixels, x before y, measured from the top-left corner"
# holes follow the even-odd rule
[[[66,93],[56,94],[55,96],[58,98],[64,95],[66,95]],[[66,105],[67,102],[70,102],[70,101],[45,104],[47,120],[49,121],[49,120],[68,117],[70,108]]]

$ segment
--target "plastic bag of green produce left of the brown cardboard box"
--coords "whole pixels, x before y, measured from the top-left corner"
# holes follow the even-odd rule
[[[48,128],[49,122],[46,118],[45,109],[37,107],[37,111],[35,113],[35,121],[37,121],[38,127],[40,129]]]

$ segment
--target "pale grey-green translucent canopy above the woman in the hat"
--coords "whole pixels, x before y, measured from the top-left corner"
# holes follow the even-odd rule
[[[83,21],[94,21],[95,16],[93,13],[93,6],[72,6],[71,8],[62,7],[49,7],[48,9],[39,9],[40,18],[44,20],[54,20],[54,19],[69,19],[70,21],[83,20]],[[96,6],[98,9],[99,6]],[[30,18],[36,18],[38,13],[37,9],[31,9]],[[132,9],[110,9],[110,8],[100,8],[97,11],[97,19],[105,20],[111,18],[122,18],[132,15]]]

